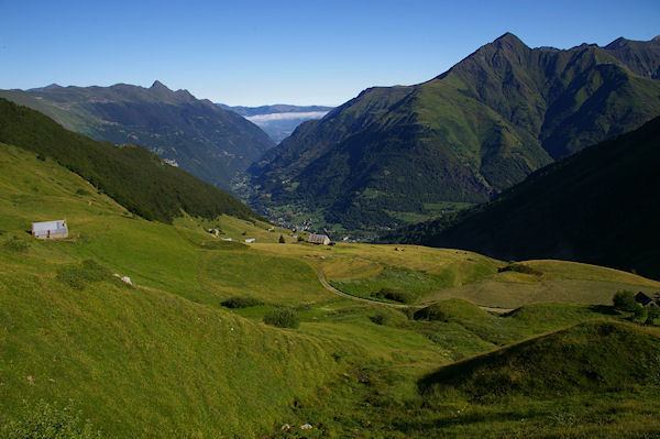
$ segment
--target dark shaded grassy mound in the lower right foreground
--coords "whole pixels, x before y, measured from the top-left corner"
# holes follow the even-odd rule
[[[460,388],[471,398],[483,398],[616,393],[658,385],[659,336],[622,322],[582,323],[453,363],[426,376],[420,386],[425,392]],[[608,354],[613,351],[616,362]]]

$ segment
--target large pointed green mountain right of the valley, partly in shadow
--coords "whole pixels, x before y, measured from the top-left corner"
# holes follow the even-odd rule
[[[660,114],[660,81],[641,75],[660,42],[619,43],[532,50],[505,34],[427,83],[367,89],[252,165],[252,205],[355,230],[487,201]]]

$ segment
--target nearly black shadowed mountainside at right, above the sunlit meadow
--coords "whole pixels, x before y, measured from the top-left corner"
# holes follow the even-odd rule
[[[536,172],[488,205],[386,241],[583,261],[660,278],[658,139],[660,118]]]

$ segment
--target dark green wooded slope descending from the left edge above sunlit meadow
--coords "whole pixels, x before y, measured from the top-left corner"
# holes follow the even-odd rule
[[[92,141],[4,99],[0,99],[0,142],[56,160],[146,219],[172,222],[182,211],[206,218],[222,213],[256,218],[227,193],[166,165],[143,147]]]

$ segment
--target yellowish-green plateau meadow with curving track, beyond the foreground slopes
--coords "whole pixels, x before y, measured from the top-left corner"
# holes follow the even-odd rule
[[[566,261],[521,262],[538,274],[498,272],[508,263],[451,249],[344,243],[334,248],[266,244],[260,249],[305,257],[344,293],[376,298],[382,288],[389,287],[411,293],[420,305],[451,297],[496,308],[539,301],[608,305],[620,289],[649,294],[660,289],[657,281]]]

